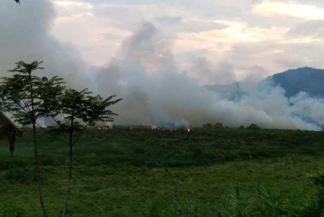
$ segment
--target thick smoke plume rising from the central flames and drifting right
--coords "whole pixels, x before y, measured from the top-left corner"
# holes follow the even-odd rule
[[[251,81],[241,83],[244,96],[230,100],[237,97],[209,91],[181,71],[171,46],[153,24],[144,23],[124,41],[117,56],[106,67],[95,70],[95,86],[100,94],[117,94],[124,98],[114,106],[120,114],[118,122],[156,124],[186,120],[198,126],[215,122],[229,126],[256,123],[266,128],[320,130],[324,118],[321,110],[317,110],[324,105],[320,100],[305,94],[288,99],[279,87],[267,83],[260,86]],[[201,58],[196,62],[201,65]],[[199,70],[199,67],[194,68]],[[223,74],[215,77],[226,77],[228,72],[232,76],[231,67],[228,68],[225,74],[224,70],[218,70]],[[316,108],[305,111],[304,107],[309,104]]]

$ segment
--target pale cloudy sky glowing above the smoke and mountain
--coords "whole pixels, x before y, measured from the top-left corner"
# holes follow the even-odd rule
[[[57,16],[51,34],[75,46],[88,67],[106,64],[124,40],[148,22],[170,43],[179,67],[201,85],[261,80],[304,66],[324,68],[320,0],[52,3]]]

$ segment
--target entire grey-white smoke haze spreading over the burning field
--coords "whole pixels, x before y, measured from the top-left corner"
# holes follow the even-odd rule
[[[0,19],[5,20],[0,23],[2,76],[8,76],[3,72],[19,60],[44,60],[45,76],[59,75],[74,88],[89,87],[103,97],[116,94],[124,98],[112,107],[120,115],[119,123],[256,123],[266,128],[309,130],[319,130],[324,124],[324,100],[305,93],[289,99],[281,88],[260,87],[254,77],[242,82],[248,94],[239,100],[207,90],[201,79],[203,83],[211,77],[219,83],[236,80],[231,59],[211,62],[204,55],[193,55],[184,68],[173,52],[173,40],[152,22],[142,22],[104,66],[88,70],[75,46],[59,42],[50,33],[56,19],[52,2],[30,0],[18,7],[6,1]],[[249,70],[263,73],[262,68]]]

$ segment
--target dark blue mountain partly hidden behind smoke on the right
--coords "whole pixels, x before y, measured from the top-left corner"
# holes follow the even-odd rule
[[[260,81],[258,86],[263,86],[265,83],[280,86],[286,91],[287,97],[295,96],[303,91],[312,97],[324,98],[324,69],[311,67],[289,69]],[[219,92],[229,99],[236,99],[245,94],[239,82],[229,85],[207,85],[206,88]]]

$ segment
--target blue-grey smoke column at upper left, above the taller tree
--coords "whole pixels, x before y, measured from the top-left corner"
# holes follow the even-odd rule
[[[40,75],[60,76],[75,88],[85,84],[85,65],[69,44],[51,37],[56,18],[53,4],[48,0],[26,0],[20,6],[3,1],[0,7],[0,76],[10,76],[8,69],[15,62],[44,61]]]

